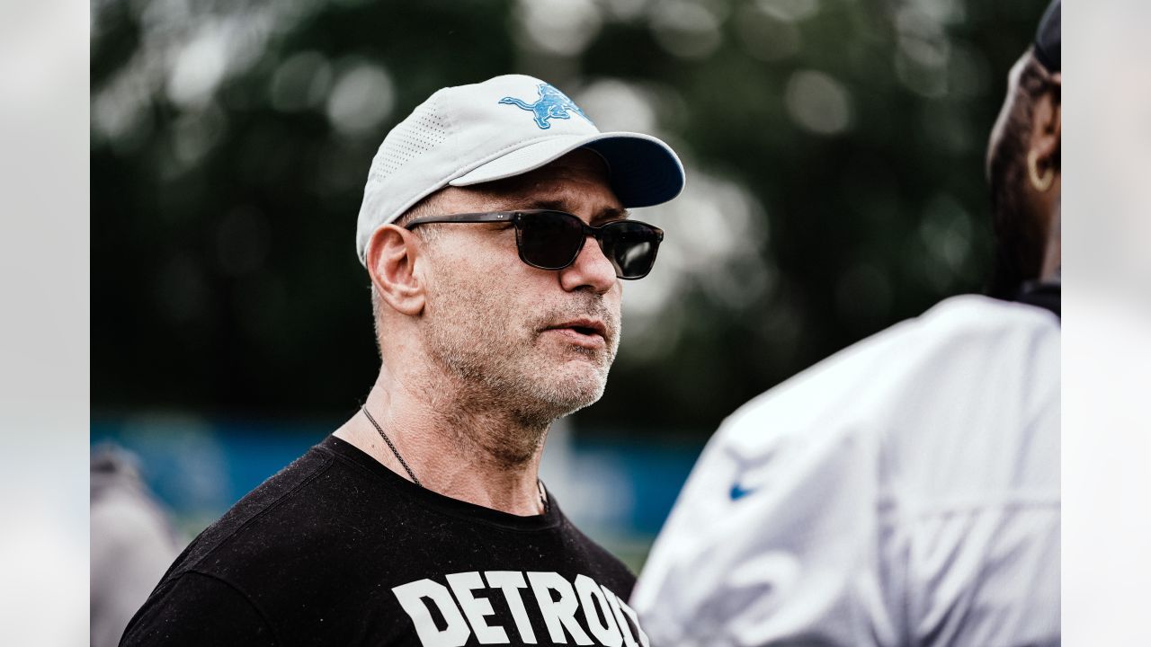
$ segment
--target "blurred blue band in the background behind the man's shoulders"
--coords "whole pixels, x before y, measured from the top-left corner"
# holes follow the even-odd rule
[[[114,442],[137,455],[144,482],[191,539],[337,426],[157,414],[93,419],[91,442]],[[567,419],[559,420],[549,432],[540,475],[578,527],[639,572],[706,437],[630,436],[610,429],[576,434]]]

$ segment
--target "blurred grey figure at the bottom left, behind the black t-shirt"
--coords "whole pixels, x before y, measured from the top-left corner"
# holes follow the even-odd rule
[[[91,645],[115,647],[185,541],[127,450],[112,444],[96,448],[90,478]]]

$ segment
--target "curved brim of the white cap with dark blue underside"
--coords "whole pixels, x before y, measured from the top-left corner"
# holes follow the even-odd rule
[[[640,132],[549,137],[485,162],[449,184],[470,187],[514,177],[584,147],[595,151],[608,162],[608,181],[625,207],[658,205],[684,190],[684,165],[674,151],[660,139]]]

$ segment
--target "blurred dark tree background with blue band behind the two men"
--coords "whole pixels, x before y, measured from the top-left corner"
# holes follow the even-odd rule
[[[378,370],[353,248],[384,134],[506,73],[669,142],[608,390],[543,477],[634,568],[721,420],[990,277],[988,134],[1042,0],[93,0],[91,405],[191,536]]]

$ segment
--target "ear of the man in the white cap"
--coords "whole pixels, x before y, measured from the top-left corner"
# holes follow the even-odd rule
[[[424,311],[424,281],[417,272],[422,252],[420,243],[407,229],[383,224],[372,233],[364,254],[380,298],[410,317]]]

